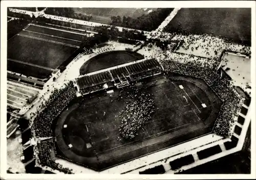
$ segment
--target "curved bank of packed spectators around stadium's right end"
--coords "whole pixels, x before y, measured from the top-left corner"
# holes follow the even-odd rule
[[[221,78],[216,71],[216,66],[209,66],[197,61],[178,62],[173,59],[160,61],[166,72],[172,72],[203,79],[206,84],[217,94],[223,104],[218,114],[213,132],[217,135],[230,137],[230,127],[235,123],[234,116],[237,115],[242,106],[242,97],[230,86],[226,78]]]

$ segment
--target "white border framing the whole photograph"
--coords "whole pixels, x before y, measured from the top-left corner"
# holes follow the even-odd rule
[[[3,179],[209,179],[255,178],[255,138],[251,138],[251,174],[7,174],[6,107],[7,107],[7,7],[109,7],[109,8],[251,8],[251,108],[255,108],[255,2],[254,1],[1,1],[1,156]],[[251,114],[251,137],[255,136],[255,111]],[[254,160],[254,161],[253,161]]]

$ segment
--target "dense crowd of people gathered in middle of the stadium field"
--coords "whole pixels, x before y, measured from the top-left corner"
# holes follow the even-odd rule
[[[118,118],[121,120],[119,133],[124,139],[133,140],[138,134],[138,130],[143,124],[150,120],[155,112],[155,101],[153,94],[143,92],[138,87],[133,87],[131,91],[124,95],[120,93],[118,98],[127,99],[125,108],[120,112]]]

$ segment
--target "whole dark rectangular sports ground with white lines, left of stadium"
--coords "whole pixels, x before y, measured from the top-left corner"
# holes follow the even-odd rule
[[[79,48],[84,37],[87,34],[28,24],[8,40],[7,70],[48,78]]]

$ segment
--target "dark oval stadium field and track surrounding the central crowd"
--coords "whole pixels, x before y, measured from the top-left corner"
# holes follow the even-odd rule
[[[141,82],[141,91],[153,94],[155,113],[132,141],[118,129],[127,100],[122,95],[131,89],[84,96],[57,121],[58,155],[103,170],[210,133],[221,101],[202,80],[193,81],[160,75]]]

